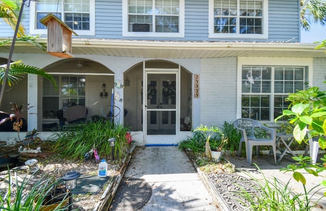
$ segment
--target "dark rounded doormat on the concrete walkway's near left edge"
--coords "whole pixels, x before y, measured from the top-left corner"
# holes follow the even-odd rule
[[[123,178],[109,210],[136,211],[152,195],[152,188],[139,178]]]

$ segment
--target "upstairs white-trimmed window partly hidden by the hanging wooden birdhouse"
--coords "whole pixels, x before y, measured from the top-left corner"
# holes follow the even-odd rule
[[[40,19],[54,14],[79,35],[95,35],[95,0],[38,0],[31,5],[31,33],[46,33]]]

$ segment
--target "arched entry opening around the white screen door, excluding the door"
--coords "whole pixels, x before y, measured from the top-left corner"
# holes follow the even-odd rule
[[[146,68],[159,68],[164,70],[171,68],[178,68],[179,64],[173,61],[152,59],[146,60]],[[128,111],[124,117],[124,125],[129,127],[131,131],[143,131],[142,119],[142,81],[143,81],[143,62],[139,62],[128,68],[123,73],[123,81],[127,86],[123,89],[123,108]],[[180,108],[179,109],[179,131],[191,131],[193,122],[193,98],[192,98],[192,84],[193,75],[188,69],[183,66],[180,67]],[[127,82],[127,83],[126,83]],[[157,90],[158,92],[161,90]],[[142,144],[142,143],[140,143]]]

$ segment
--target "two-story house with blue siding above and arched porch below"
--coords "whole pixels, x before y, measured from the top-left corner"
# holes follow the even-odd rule
[[[47,30],[39,20],[49,13],[78,36],[74,58],[16,44],[12,60],[44,68],[59,86],[29,75],[6,90],[2,110],[11,101],[34,106],[29,130],[59,124],[57,111],[73,104],[87,107],[89,118],[105,115],[114,92],[115,121],[134,140],[170,145],[200,124],[273,122],[288,93],[326,88],[324,50],[300,43],[298,0],[37,0],[24,8],[22,23],[42,34],[40,42]],[[13,36],[9,26],[0,29],[1,40]],[[1,63],[9,49],[0,48]]]

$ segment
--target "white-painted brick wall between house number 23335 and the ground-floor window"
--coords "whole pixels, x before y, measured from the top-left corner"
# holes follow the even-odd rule
[[[201,124],[222,126],[225,121],[235,120],[236,71],[236,57],[201,60]]]

